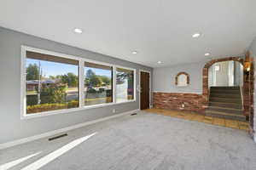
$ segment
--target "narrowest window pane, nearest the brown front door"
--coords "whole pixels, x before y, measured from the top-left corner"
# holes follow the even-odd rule
[[[117,68],[116,77],[116,101],[134,99],[134,71]]]

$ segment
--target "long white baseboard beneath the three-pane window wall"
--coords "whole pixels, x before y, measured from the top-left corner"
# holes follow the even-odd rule
[[[27,142],[31,142],[33,140],[43,139],[43,138],[53,136],[53,135],[58,134],[58,133],[64,133],[64,132],[67,132],[67,131],[70,131],[70,130],[73,130],[73,129],[76,129],[76,128],[79,128],[79,127],[84,127],[84,126],[94,124],[96,122],[107,121],[108,119],[113,119],[115,117],[125,116],[125,115],[128,115],[128,114],[137,112],[137,111],[139,111],[139,110],[127,111],[127,112],[124,112],[124,113],[119,113],[117,115],[107,116],[107,117],[103,117],[103,118],[100,118],[100,119],[96,119],[94,121],[79,123],[79,124],[73,125],[71,127],[64,127],[64,128],[61,128],[61,129],[50,131],[48,133],[41,133],[41,134],[31,136],[31,137],[28,137],[28,138],[18,139],[18,140],[11,141],[11,142],[8,142],[8,143],[3,143],[3,144],[0,144],[0,150],[6,149],[6,148],[9,148],[9,147],[18,145],[18,144],[24,144],[24,143],[27,143]]]

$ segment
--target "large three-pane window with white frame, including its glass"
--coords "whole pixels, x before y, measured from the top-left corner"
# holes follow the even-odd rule
[[[135,101],[136,70],[21,46],[21,118]]]

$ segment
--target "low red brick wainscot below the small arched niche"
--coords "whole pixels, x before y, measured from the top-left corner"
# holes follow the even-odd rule
[[[184,105],[184,107],[182,107]],[[201,94],[154,93],[154,107],[177,111],[204,113],[206,100]]]

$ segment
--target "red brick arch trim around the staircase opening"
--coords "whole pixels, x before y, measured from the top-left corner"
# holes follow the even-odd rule
[[[205,99],[207,101],[209,101],[209,87],[208,87],[208,70],[209,68],[214,64],[214,63],[218,63],[218,62],[222,62],[222,61],[238,61],[241,63],[241,65],[243,65],[244,63],[244,59],[241,59],[240,57],[228,57],[228,58],[224,58],[224,59],[212,59],[211,61],[207,62],[207,64],[204,66],[203,68],[203,82],[202,82],[202,95],[203,95],[203,99]]]

